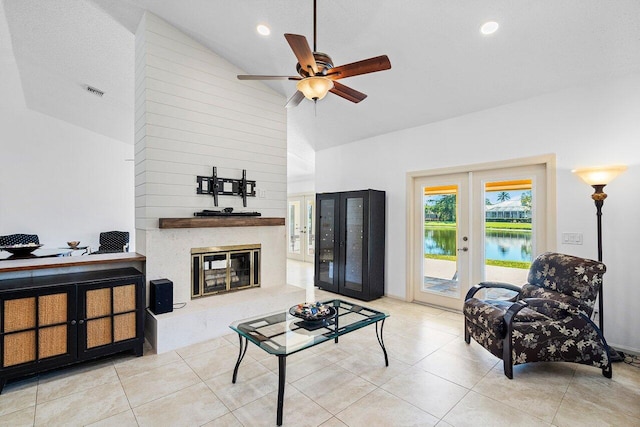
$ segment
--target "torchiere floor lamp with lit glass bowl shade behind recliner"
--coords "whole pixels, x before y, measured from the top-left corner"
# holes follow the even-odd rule
[[[625,170],[627,170],[627,167],[620,165],[581,168],[571,171],[594,189],[591,198],[596,204],[596,216],[598,219],[598,261],[600,262],[602,262],[602,205],[604,205],[604,199],[607,198],[607,193],[605,193],[603,189]],[[600,324],[600,331],[604,335],[603,285],[604,284],[600,285],[600,295],[598,295],[598,323]],[[622,361],[620,354],[612,347],[609,347],[609,356],[612,362]]]

